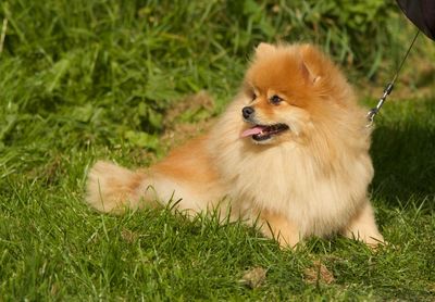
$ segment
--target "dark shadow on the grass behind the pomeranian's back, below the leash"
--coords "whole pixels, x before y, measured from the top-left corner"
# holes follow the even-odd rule
[[[435,209],[435,100],[386,106],[373,133],[373,198],[388,205],[428,198],[423,206]]]

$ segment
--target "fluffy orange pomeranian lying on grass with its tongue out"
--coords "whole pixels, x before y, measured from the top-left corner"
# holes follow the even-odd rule
[[[332,61],[310,45],[260,43],[241,89],[211,131],[148,169],[97,162],[87,202],[122,213],[179,201],[256,222],[283,247],[343,234],[383,242],[368,186],[365,111]]]

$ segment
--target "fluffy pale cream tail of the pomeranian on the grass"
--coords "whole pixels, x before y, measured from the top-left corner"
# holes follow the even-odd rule
[[[126,209],[137,209],[144,178],[141,173],[99,161],[88,174],[86,201],[105,213],[122,214]]]

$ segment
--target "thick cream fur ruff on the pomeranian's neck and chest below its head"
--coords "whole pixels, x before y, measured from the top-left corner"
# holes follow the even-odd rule
[[[249,129],[247,130],[249,131]],[[337,231],[364,201],[373,169],[368,154],[322,159],[322,142],[300,146],[295,141],[256,146],[234,133],[213,141],[222,179],[234,209],[282,213],[300,227],[300,235],[324,236]],[[325,160],[326,162],[323,162]],[[334,167],[331,167],[331,166]],[[331,168],[328,168],[331,167]],[[346,184],[346,185],[345,185]]]

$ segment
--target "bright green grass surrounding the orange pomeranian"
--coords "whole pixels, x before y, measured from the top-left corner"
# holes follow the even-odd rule
[[[357,70],[356,80],[378,62],[397,61],[380,50],[388,47],[382,32],[370,32],[377,42],[359,56],[349,42],[358,39],[348,36],[358,24],[346,27],[352,15],[319,1],[281,1],[278,13],[272,1],[117,3],[0,2],[0,22],[9,21],[0,53],[0,301],[434,301],[435,100],[394,101],[405,85],[373,134],[372,199],[389,242],[377,251],[338,237],[283,251],[254,228],[217,217],[189,221],[170,209],[120,217],[88,209],[84,185],[97,159],[133,167],[164,156],[173,144],[161,139],[165,130],[179,134],[182,124],[217,115],[259,41],[316,41]],[[406,33],[391,51],[406,48],[412,36]],[[417,53],[434,60],[433,51]],[[384,83],[373,85],[382,90]],[[212,109],[188,104],[167,118],[201,90],[213,97]],[[330,282],[304,276],[319,262],[333,274]],[[258,266],[265,279],[247,287],[245,272]]]

